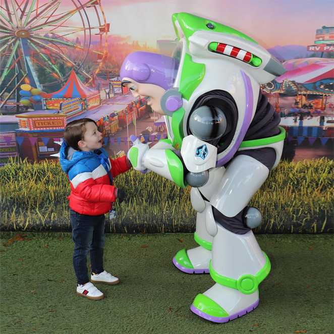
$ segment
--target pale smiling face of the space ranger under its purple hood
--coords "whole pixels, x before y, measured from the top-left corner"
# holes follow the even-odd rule
[[[146,98],[147,104],[151,106],[154,112],[164,115],[161,109],[160,100],[165,90],[160,86],[146,83],[139,83],[129,78],[123,78],[125,81],[130,81],[125,83],[124,86],[132,92],[133,96]]]

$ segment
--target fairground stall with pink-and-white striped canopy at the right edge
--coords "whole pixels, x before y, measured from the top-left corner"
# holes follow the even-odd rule
[[[326,145],[332,141],[334,133],[334,115],[330,108],[334,99],[334,61],[293,59],[283,66],[287,72],[263,88],[276,95],[276,111],[281,114],[280,125],[287,131],[287,140],[296,140],[297,145],[305,141],[310,145]]]

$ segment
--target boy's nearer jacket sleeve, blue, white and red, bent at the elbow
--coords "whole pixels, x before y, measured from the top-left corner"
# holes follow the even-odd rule
[[[92,172],[84,164],[74,165],[69,173],[74,194],[90,202],[115,202],[115,187],[106,184],[96,184]]]

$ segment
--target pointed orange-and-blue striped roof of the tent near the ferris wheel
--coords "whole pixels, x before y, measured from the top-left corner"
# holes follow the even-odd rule
[[[71,71],[71,74],[65,83],[65,85],[58,90],[57,92],[43,94],[44,98],[87,98],[90,96],[95,96],[99,94],[97,90],[90,89],[86,87],[81,80],[77,77],[74,70]]]

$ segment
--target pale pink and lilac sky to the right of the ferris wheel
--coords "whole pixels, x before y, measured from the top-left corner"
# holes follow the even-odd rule
[[[157,39],[174,39],[173,13],[189,12],[248,34],[266,48],[313,44],[315,30],[334,25],[330,0],[101,0],[112,34],[150,46]]]

